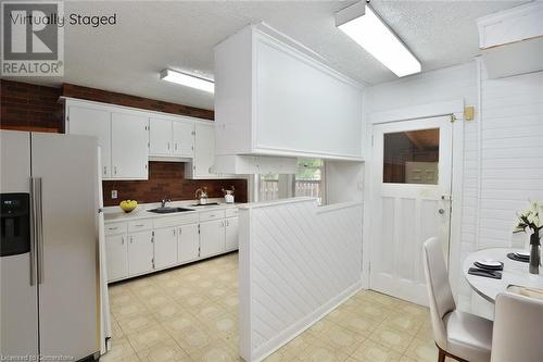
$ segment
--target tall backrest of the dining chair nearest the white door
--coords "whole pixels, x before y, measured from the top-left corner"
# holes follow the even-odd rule
[[[424,263],[428,303],[432,322],[433,338],[441,349],[447,349],[446,326],[443,317],[456,309],[443,250],[437,237],[431,237],[424,245]]]

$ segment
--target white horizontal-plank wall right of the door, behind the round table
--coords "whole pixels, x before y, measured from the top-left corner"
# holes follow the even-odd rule
[[[476,248],[508,247],[516,212],[543,200],[543,72],[498,79],[481,67],[479,228]],[[492,307],[473,295],[473,311]]]

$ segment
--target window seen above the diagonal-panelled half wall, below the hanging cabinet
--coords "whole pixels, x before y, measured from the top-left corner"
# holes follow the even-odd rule
[[[258,200],[268,201],[290,197],[314,197],[321,203],[324,197],[325,163],[318,159],[299,159],[294,175],[267,174],[258,178]]]

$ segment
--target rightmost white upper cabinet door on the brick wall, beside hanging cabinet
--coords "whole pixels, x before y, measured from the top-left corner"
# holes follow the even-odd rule
[[[210,167],[215,163],[215,126],[197,123],[194,126],[194,178],[215,177]]]

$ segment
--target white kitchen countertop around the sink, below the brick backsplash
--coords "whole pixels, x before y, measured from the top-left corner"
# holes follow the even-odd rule
[[[210,199],[209,202],[211,203],[211,202],[219,202],[219,201],[214,200],[214,199]],[[172,217],[172,216],[193,214],[193,213],[198,213],[201,211],[210,211],[210,210],[237,209],[243,204],[243,203],[219,202],[219,204],[192,207],[193,203],[197,203],[197,201],[190,200],[190,201],[168,202],[167,203],[168,208],[187,208],[187,209],[193,210],[193,211],[174,212],[174,213],[169,213],[169,214],[157,214],[157,213],[153,213],[153,212],[148,211],[151,209],[160,208],[161,207],[160,202],[138,204],[138,208],[136,208],[136,210],[134,210],[132,212],[129,212],[129,213],[124,212],[123,210],[121,210],[119,207],[108,207],[108,208],[104,208],[104,210],[103,210],[103,214],[104,214],[103,216],[104,216],[105,223],[125,222],[125,221],[141,220],[141,219],[157,219],[157,217],[168,217],[168,216]]]

